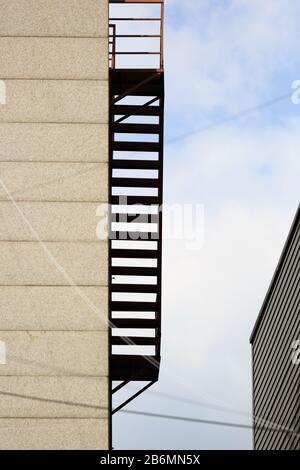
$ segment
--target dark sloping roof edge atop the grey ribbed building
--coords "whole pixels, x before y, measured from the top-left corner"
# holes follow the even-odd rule
[[[264,315],[264,311],[265,311],[265,308],[267,306],[267,303],[269,302],[270,300],[270,297],[271,297],[271,294],[273,292],[273,289],[275,287],[275,284],[277,282],[277,279],[278,279],[278,276],[280,274],[280,271],[281,271],[281,268],[282,268],[282,265],[284,263],[284,260],[285,260],[285,257],[287,255],[287,252],[288,252],[288,249],[289,249],[289,245],[290,245],[290,242],[295,234],[295,231],[296,231],[296,228],[298,226],[300,222],[300,203],[298,205],[298,209],[297,209],[297,212],[296,212],[296,215],[294,217],[294,220],[293,220],[293,223],[292,223],[292,226],[290,228],[290,231],[289,231],[289,234],[287,236],[287,239],[286,239],[286,242],[284,244],[284,247],[283,247],[283,250],[281,252],[281,255],[280,255],[280,258],[279,258],[279,261],[277,263],[277,267],[276,267],[276,270],[275,270],[275,273],[273,274],[273,277],[272,277],[272,280],[271,280],[271,283],[270,283],[270,286],[268,288],[268,291],[266,293],[266,296],[264,298],[264,301],[263,301],[263,304],[260,308],[260,311],[259,311],[259,314],[258,314],[258,317],[257,317],[257,320],[254,324],[254,327],[253,327],[253,330],[252,330],[252,333],[251,333],[251,336],[250,336],[250,343],[253,344],[253,341],[255,339],[255,335],[257,333],[257,330],[261,324],[261,321],[263,319],[263,315]]]

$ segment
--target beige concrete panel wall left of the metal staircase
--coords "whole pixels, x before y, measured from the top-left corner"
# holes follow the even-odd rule
[[[108,0],[0,11],[0,449],[106,449]]]

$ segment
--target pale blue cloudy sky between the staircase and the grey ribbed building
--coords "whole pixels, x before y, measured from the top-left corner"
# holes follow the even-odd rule
[[[166,2],[165,202],[203,204],[205,243],[164,244],[161,377],[152,392],[251,413],[249,337],[299,203],[300,3]],[[129,406],[250,422],[145,393]],[[117,449],[249,449],[251,432],[118,414]]]

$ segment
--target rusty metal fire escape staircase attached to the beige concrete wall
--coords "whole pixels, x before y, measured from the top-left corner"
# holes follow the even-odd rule
[[[130,382],[146,382],[115,413],[158,380],[161,359],[163,202],[163,12],[159,17],[110,17],[109,320],[111,400]],[[138,21],[158,24],[157,34],[118,34]],[[122,41],[158,38],[155,52],[124,50]],[[140,46],[139,42],[139,46]],[[141,67],[151,55],[157,67]],[[134,68],[126,67],[132,57]],[[122,59],[122,68],[118,60]],[[125,67],[124,67],[125,64]],[[116,385],[114,385],[116,384]]]

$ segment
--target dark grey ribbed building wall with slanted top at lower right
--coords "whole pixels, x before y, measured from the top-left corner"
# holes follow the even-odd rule
[[[255,449],[300,449],[300,365],[292,360],[300,340],[299,281],[300,208],[251,338]],[[263,429],[278,425],[284,429]]]

